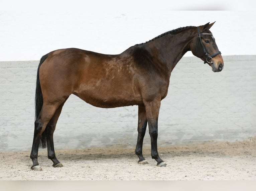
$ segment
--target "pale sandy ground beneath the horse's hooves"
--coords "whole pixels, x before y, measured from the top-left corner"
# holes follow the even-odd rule
[[[52,167],[45,149],[32,171],[29,151],[0,152],[0,180],[256,180],[256,137],[242,142],[218,142],[158,148],[166,167],[157,167],[150,149],[149,164],[137,164],[134,149],[88,148],[56,150],[64,165]]]

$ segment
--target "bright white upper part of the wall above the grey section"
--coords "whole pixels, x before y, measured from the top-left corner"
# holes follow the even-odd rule
[[[35,2],[1,3],[0,61],[39,60],[52,50],[70,47],[118,54],[169,30],[214,21],[211,31],[222,55],[255,54],[256,12],[250,6],[246,11],[173,11],[230,10],[235,1],[198,6],[161,0]]]

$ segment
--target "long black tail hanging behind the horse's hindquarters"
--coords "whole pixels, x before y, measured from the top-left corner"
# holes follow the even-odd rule
[[[39,69],[42,63],[47,59],[48,54],[44,55],[39,63],[38,69],[37,69],[37,77],[36,77],[36,88],[35,88],[35,119],[39,116],[39,113],[43,106],[43,95],[42,95],[42,89],[39,81]],[[39,147],[46,148],[46,137],[47,137],[47,127],[45,128],[44,132],[41,135]]]

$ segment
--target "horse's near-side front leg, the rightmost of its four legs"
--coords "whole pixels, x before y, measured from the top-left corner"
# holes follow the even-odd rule
[[[157,161],[157,166],[166,166],[166,163],[159,157],[157,151],[157,136],[158,136],[158,114],[160,109],[160,99],[150,102],[145,102],[147,120],[148,120],[148,129],[151,140],[151,157]]]

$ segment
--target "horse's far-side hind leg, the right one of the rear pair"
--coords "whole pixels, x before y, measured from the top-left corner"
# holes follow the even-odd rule
[[[47,132],[47,138],[46,138],[48,158],[51,159],[51,161],[53,162],[53,165],[52,165],[53,167],[62,167],[63,166],[57,160],[57,158],[55,156],[54,145],[53,145],[53,132],[55,130],[57,120],[58,120],[59,115],[61,113],[61,109],[62,109],[64,103],[66,102],[66,100],[59,105],[59,107],[55,111],[54,115],[52,116],[51,120],[49,121],[49,123],[47,124],[47,127],[46,127],[47,131],[48,131]]]

